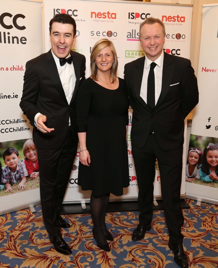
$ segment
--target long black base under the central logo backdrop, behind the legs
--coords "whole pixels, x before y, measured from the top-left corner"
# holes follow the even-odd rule
[[[181,208],[189,209],[190,206],[186,203],[184,199],[182,200]],[[163,210],[162,200],[154,200],[157,202],[157,206],[153,204],[153,210]],[[85,204],[83,209],[82,204],[62,204],[60,214],[83,214],[90,213],[90,203]],[[109,202],[107,212],[123,212],[123,211],[138,211],[137,201],[127,201],[127,202]]]

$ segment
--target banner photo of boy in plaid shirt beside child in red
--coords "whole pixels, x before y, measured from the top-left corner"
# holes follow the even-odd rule
[[[37,148],[32,139],[0,143],[0,197],[39,188]]]

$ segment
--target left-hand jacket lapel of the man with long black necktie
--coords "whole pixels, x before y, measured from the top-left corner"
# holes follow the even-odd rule
[[[151,111],[151,109],[149,108],[147,103],[145,103],[145,101],[142,99],[142,97],[140,97],[144,65],[145,65],[145,56],[140,58],[136,64],[135,73],[134,73],[135,95],[136,95],[137,99],[140,101],[140,103],[147,110]]]

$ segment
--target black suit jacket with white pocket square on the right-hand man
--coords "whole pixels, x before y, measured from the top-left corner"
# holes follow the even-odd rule
[[[151,127],[163,151],[183,145],[184,118],[198,103],[197,78],[189,59],[164,52],[161,94],[152,111],[140,97],[145,57],[127,63],[124,79],[133,109],[131,142],[145,146]]]

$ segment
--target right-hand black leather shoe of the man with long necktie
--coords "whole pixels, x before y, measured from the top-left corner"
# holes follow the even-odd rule
[[[182,268],[189,268],[188,258],[184,252],[182,243],[168,243],[169,248],[172,250],[174,254],[174,261]]]

